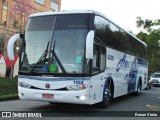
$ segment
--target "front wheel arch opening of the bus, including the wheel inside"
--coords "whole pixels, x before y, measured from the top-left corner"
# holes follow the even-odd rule
[[[114,95],[114,83],[111,77],[108,77],[104,83],[102,102],[99,103],[101,108],[106,108]]]

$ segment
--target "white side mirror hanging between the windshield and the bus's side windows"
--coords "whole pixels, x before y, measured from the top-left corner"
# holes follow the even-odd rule
[[[86,59],[93,59],[93,41],[94,41],[94,31],[91,30],[87,34],[86,38]]]

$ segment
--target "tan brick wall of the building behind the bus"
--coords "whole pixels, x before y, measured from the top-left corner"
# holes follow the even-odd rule
[[[7,21],[6,25],[2,25],[2,17],[3,17],[3,1],[6,1],[8,3],[8,9],[7,9]],[[5,42],[18,30],[14,27],[14,20],[10,17],[10,12],[13,11],[13,5],[14,2],[17,0],[0,0],[0,39],[2,37],[1,34],[5,34]],[[32,5],[34,6],[34,9],[32,10],[33,13],[37,12],[46,12],[46,11],[55,11],[54,9],[51,9],[51,1],[52,0],[44,0],[44,5],[37,3],[37,1],[41,0],[29,0]],[[56,1],[58,4],[58,11],[60,11],[61,8],[61,0],[53,0]],[[18,21],[17,21],[18,22]],[[0,43],[1,44],[1,43]],[[4,46],[4,50],[6,49],[6,46]],[[4,55],[6,58],[6,55]]]

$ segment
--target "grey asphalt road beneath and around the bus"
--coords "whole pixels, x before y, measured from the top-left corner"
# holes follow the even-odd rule
[[[158,120],[158,117],[114,117],[116,114],[128,114],[132,111],[135,113],[141,113],[143,111],[148,113],[160,112],[160,87],[152,87],[149,90],[143,90],[139,96],[126,95],[114,99],[111,104],[105,108],[98,108],[97,105],[88,106],[88,105],[73,105],[73,104],[49,104],[47,102],[39,101],[22,101],[22,100],[12,100],[12,101],[3,101],[0,102],[0,111],[47,111],[47,116],[56,116],[57,119],[63,118],[63,120],[72,120],[72,119],[85,119],[94,120],[94,119],[106,119],[106,115],[111,111],[114,113],[113,117],[107,117],[110,120]],[[83,112],[76,112],[83,111]],[[125,112],[123,112],[125,111]],[[87,116],[86,114],[87,113]],[[67,116],[67,117],[66,117]],[[94,117],[93,117],[94,116]],[[126,115],[127,116],[127,115]],[[100,117],[100,118],[99,118]],[[5,118],[0,118],[5,119]],[[22,118],[12,118],[20,120]],[[27,119],[27,118],[23,118]],[[36,119],[36,118],[32,118]],[[40,119],[40,118],[39,118]],[[44,119],[44,118],[41,118]],[[46,119],[46,118],[45,118]],[[48,117],[47,119],[52,119]]]

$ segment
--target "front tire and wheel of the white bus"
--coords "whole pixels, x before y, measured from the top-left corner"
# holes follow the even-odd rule
[[[99,103],[99,107],[101,108],[106,108],[108,107],[110,101],[111,101],[111,91],[110,91],[110,86],[107,84],[104,87],[104,92],[103,92],[103,100],[102,102]]]

